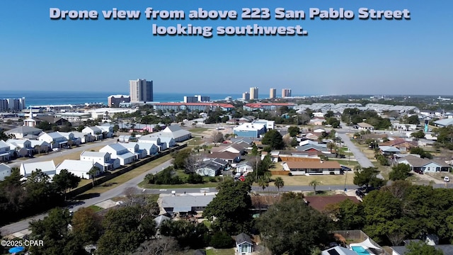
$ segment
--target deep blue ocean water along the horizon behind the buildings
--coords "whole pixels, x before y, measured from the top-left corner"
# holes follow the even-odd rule
[[[79,103],[104,103],[111,95],[129,95],[129,92],[87,92],[87,91],[0,91],[0,98],[23,98],[28,106],[47,106]],[[180,102],[184,96],[193,96],[185,93],[154,93],[155,102]],[[233,99],[241,98],[242,94],[203,94],[211,100],[222,100],[227,96]]]

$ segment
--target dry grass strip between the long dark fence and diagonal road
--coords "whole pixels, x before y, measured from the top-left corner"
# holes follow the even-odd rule
[[[166,162],[167,160],[171,159],[171,155],[165,155],[164,157],[161,157],[159,159],[156,159],[152,162],[149,162],[148,164],[144,164],[143,166],[139,166],[136,169],[133,169],[131,171],[128,171],[125,174],[121,174],[120,176],[117,176],[110,181],[107,181],[100,186],[96,186],[94,188],[91,188],[90,190],[86,191],[84,194],[87,193],[104,193],[105,191],[109,191],[112,188],[115,188],[118,185],[121,185],[122,183],[125,183],[126,181],[129,181],[130,179],[133,179],[136,176],[139,176],[140,174],[143,174],[150,169],[154,169],[154,167],[159,166],[160,164]]]

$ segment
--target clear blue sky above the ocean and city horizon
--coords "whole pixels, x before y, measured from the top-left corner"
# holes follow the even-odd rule
[[[148,20],[145,10],[184,11],[183,20]],[[50,8],[98,11],[97,20],[51,19]],[[140,11],[105,20],[102,11]],[[193,20],[191,10],[236,11],[236,20]],[[268,20],[243,20],[268,8]],[[277,20],[275,8],[305,11]],[[355,14],[309,18],[310,8]],[[361,20],[359,8],[410,11],[410,20]],[[453,95],[453,1],[432,0],[2,0],[1,91],[128,91],[131,79],[155,92],[241,94],[258,87],[292,95]],[[447,10],[447,11],[446,11]],[[153,25],[212,27],[212,37],[154,35]],[[308,35],[217,35],[218,27],[302,26]]]

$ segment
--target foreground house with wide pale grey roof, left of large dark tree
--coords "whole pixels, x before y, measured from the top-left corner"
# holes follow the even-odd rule
[[[170,215],[187,215],[191,212],[204,211],[214,198],[214,194],[205,193],[205,196],[163,196],[159,199],[161,208]]]

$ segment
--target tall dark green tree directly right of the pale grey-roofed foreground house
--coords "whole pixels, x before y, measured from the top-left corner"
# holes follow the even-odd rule
[[[246,181],[225,180],[219,184],[219,193],[212,199],[203,212],[203,217],[212,220],[212,227],[228,234],[249,232],[251,227],[251,191]]]

